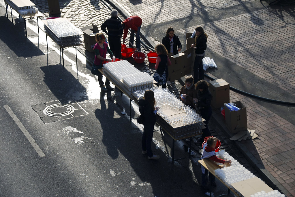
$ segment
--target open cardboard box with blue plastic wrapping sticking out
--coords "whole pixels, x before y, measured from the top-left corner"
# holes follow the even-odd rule
[[[238,133],[239,131],[247,130],[247,110],[241,101],[233,102],[240,110],[230,111],[224,106],[225,124],[230,130],[230,133]]]

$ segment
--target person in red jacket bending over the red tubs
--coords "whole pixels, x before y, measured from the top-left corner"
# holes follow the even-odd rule
[[[127,38],[128,29],[131,29],[130,34],[130,44],[129,47],[132,47],[134,41],[134,33],[136,34],[136,50],[140,51],[140,28],[142,24],[142,19],[139,16],[130,16],[125,21],[122,22],[122,26],[124,28],[124,36],[123,36],[123,43]],[[131,45],[132,44],[132,45]]]

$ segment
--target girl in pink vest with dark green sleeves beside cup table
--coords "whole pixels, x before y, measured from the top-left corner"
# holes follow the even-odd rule
[[[104,36],[104,34],[101,34],[101,33],[96,34],[95,41],[97,43],[94,45],[94,48],[93,48],[95,52],[93,66],[96,66],[97,69],[101,69],[103,67],[103,64],[102,64],[103,61],[107,61],[107,62],[112,61],[112,59],[106,59],[106,52],[109,52],[109,54],[111,55],[111,58],[113,57],[113,53],[109,49],[108,44],[105,42],[106,37]],[[114,90],[110,86],[109,79],[106,78],[106,87],[105,87],[104,82],[102,81],[102,73],[98,71],[96,74],[98,75],[98,82],[102,91],[107,91],[107,89]]]

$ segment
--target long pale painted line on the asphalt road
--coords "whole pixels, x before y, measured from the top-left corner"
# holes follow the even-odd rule
[[[19,121],[19,119],[17,118],[17,116],[13,113],[13,111],[11,110],[11,108],[8,105],[4,105],[4,108],[6,109],[6,111],[9,113],[9,115],[12,117],[12,119],[14,120],[14,122],[17,124],[17,126],[20,128],[20,130],[22,130],[22,133],[24,133],[24,136],[27,137],[27,139],[29,140],[29,142],[32,144],[33,148],[35,149],[35,151],[38,153],[38,155],[40,157],[45,157],[45,154],[43,153],[43,151],[41,150],[41,148],[38,146],[38,144],[35,142],[35,140],[32,138],[32,136],[30,135],[30,133],[27,131],[27,129],[24,127],[24,125],[21,123],[21,121]]]

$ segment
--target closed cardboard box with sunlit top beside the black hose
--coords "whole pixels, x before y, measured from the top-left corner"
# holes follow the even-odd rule
[[[223,107],[224,103],[230,102],[230,84],[224,81],[223,79],[210,81],[209,91],[212,94],[212,107]]]

